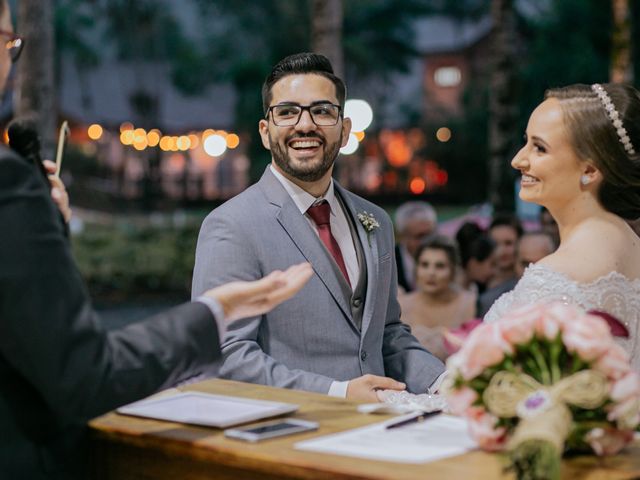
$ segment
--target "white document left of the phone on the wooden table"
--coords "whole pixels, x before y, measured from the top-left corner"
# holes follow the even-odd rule
[[[116,411],[125,415],[167,420],[169,422],[226,428],[240,423],[295,412],[298,405],[229,397],[201,392],[181,392],[151,397]]]

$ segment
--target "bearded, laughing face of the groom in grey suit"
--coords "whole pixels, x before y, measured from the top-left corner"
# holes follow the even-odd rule
[[[331,80],[321,75],[288,75],[271,89],[271,104],[308,106],[320,102],[338,104]],[[273,114],[259,124],[262,144],[271,150],[276,167],[285,175],[303,182],[316,182],[331,175],[340,147],[351,130],[351,121],[339,118],[335,125],[318,126],[308,110],[303,110],[298,123],[278,126]]]

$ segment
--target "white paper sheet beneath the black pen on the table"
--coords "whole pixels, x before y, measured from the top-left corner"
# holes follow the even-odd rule
[[[432,462],[476,448],[467,432],[467,422],[461,418],[438,415],[421,423],[385,428],[398,420],[402,417],[305,440],[296,443],[295,448],[400,463]]]

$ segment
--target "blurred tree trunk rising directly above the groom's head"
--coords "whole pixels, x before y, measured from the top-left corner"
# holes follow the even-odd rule
[[[335,74],[344,78],[342,54],[342,0],[312,0],[311,48],[331,60]]]

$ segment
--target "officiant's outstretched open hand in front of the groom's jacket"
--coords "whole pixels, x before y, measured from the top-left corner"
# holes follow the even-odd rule
[[[311,278],[311,264],[300,263],[284,272],[276,270],[252,282],[230,282],[205,292],[224,310],[227,324],[268,312],[293,297]]]

